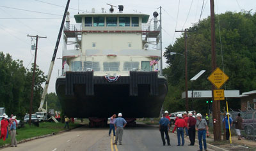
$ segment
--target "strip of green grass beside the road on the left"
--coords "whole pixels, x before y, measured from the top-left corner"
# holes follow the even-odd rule
[[[63,123],[54,123],[54,122],[42,122],[40,123],[39,127],[34,126],[31,124],[29,126],[28,124],[25,124],[24,128],[17,129],[17,135],[16,139],[17,141],[24,140],[27,138],[33,138],[36,136],[42,136],[45,134],[52,134],[52,133],[58,133],[60,131],[64,130],[65,124]],[[79,126],[79,124],[72,124],[69,123],[69,128],[74,128]],[[3,139],[0,140],[0,147],[4,144],[10,144],[11,138],[10,134],[8,134],[8,138],[3,141]]]

